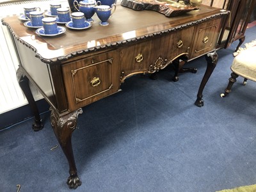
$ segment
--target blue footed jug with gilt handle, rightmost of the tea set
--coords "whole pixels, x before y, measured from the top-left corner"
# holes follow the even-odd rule
[[[116,4],[112,4],[111,7],[108,5],[95,6],[95,12],[101,20],[100,26],[108,26],[108,19],[113,15],[116,10]]]

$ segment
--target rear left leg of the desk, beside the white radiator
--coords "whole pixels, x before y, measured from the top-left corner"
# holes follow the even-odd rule
[[[42,124],[42,120],[40,118],[35,99],[34,99],[32,93],[31,93],[31,90],[29,88],[29,79],[22,73],[21,68],[18,68],[16,77],[17,77],[17,81],[19,82],[20,88],[22,89],[22,92],[28,99],[28,103],[29,103],[31,110],[33,111],[33,115],[35,116],[35,122],[32,125],[32,128],[34,131],[39,131],[39,130],[43,129],[44,124]]]

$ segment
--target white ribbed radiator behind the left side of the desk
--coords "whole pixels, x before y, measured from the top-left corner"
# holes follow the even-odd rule
[[[26,4],[33,4],[41,8],[42,11],[49,10],[49,4],[54,1],[38,0],[38,1],[8,1],[3,3],[0,0],[0,20],[7,16],[20,15],[23,13],[23,7]],[[67,0],[58,1],[61,6],[68,6]],[[20,106],[28,104],[24,97],[19,83],[16,79],[16,70],[19,61],[12,44],[12,39],[6,26],[1,24],[0,28],[0,114],[10,111]],[[31,86],[31,91],[35,100],[42,99],[42,95]]]

